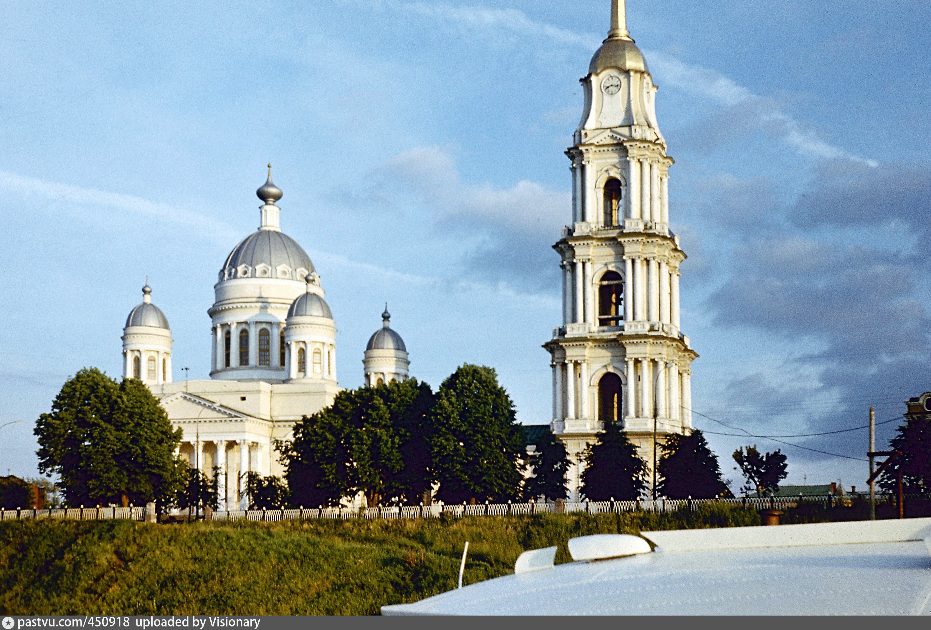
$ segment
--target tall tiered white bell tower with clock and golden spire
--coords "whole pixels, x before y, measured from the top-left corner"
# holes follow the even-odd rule
[[[582,120],[566,151],[573,177],[572,225],[553,248],[562,269],[562,325],[544,348],[552,357],[552,431],[573,466],[578,500],[582,453],[606,422],[621,422],[653,465],[662,442],[692,426],[691,364],[681,333],[680,265],[669,231],[673,159],[656,122],[657,87],[627,32],[624,0],[612,1],[611,30],[592,57]]]

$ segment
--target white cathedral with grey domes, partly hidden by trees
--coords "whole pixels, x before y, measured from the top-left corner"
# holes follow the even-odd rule
[[[161,400],[192,467],[210,476],[217,467],[221,510],[245,507],[245,472],[284,472],[275,441],[340,390],[336,322],[310,257],[281,231],[271,165],[256,195],[261,225],[226,256],[213,286],[210,378],[172,382],[171,330],[148,282],[123,329],[123,377],[141,379]],[[389,318],[385,306],[365,349],[367,385],[408,377],[407,349]]]

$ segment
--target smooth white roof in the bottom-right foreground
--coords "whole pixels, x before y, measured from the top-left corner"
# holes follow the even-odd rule
[[[931,614],[931,518],[641,535],[653,552],[539,569],[525,559],[524,572],[382,612]]]

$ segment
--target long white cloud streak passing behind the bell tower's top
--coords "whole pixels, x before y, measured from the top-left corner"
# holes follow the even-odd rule
[[[358,2],[358,0],[356,0]],[[453,7],[446,3],[401,2],[400,0],[372,0],[367,6],[388,9],[409,15],[428,18],[435,23],[455,25],[460,29],[482,33],[506,31],[529,38],[546,38],[549,42],[563,46],[595,50],[600,37],[595,34],[575,33],[568,29],[534,21],[515,8],[492,9],[485,7]],[[703,98],[723,107],[736,107],[753,103],[760,127],[774,130],[784,142],[808,158],[848,159],[853,162],[878,166],[876,160],[863,158],[834,146],[818,137],[814,130],[806,127],[781,111],[775,103],[754,94],[738,85],[734,80],[699,65],[692,65],[658,52],[644,50],[658,81],[692,96]]]

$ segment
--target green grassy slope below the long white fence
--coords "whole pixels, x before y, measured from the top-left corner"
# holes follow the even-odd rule
[[[593,533],[759,525],[756,512],[146,525],[0,523],[0,614],[376,614]]]

